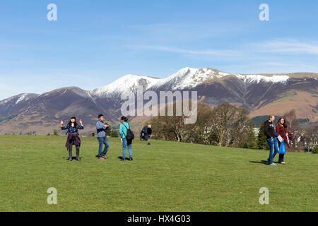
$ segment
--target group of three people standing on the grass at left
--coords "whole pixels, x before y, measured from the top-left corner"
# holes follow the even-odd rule
[[[79,157],[79,151],[81,147],[81,138],[78,135],[78,129],[84,129],[83,121],[79,120],[80,125],[76,122],[76,117],[72,117],[69,123],[64,126],[64,121],[61,120],[61,129],[67,130],[66,134],[68,134],[66,139],[66,148],[69,150],[69,161],[73,160],[72,155],[72,147],[75,145],[76,147],[76,160],[81,161]],[[98,160],[105,160],[107,159],[107,151],[110,148],[110,143],[108,142],[106,136],[108,124],[104,122],[104,116],[102,114],[98,115],[98,121],[96,122],[96,130],[98,136]],[[124,116],[120,118],[120,125],[119,125],[119,135],[122,138],[122,159],[121,161],[126,160],[126,148],[128,148],[129,153],[129,160],[133,160],[133,154],[131,150],[132,139],[131,136],[127,136],[130,131],[130,125],[128,123],[128,119]]]

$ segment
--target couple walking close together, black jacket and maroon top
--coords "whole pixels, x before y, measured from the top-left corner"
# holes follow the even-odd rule
[[[286,150],[287,148],[290,148],[288,143],[289,140],[293,139],[293,135],[287,131],[287,124],[284,118],[278,119],[276,126],[274,121],[275,116],[270,114],[269,120],[264,122],[264,133],[266,135],[267,142],[269,143],[269,158],[267,159],[267,163],[269,165],[276,165],[273,162],[274,157],[280,149]],[[278,163],[286,164],[284,156],[284,153],[279,153]]]

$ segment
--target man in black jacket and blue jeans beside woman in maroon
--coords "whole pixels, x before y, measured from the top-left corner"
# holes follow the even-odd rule
[[[278,140],[276,136],[276,129],[273,122],[275,121],[275,116],[273,114],[269,115],[269,120],[264,122],[264,133],[269,143],[269,165],[276,165],[273,163],[273,158],[278,153]]]

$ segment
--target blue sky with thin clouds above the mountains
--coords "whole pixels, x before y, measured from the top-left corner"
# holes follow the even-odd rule
[[[47,20],[51,3],[57,21]],[[263,3],[269,21],[259,20]],[[318,72],[317,22],[314,0],[1,1],[0,100],[186,66]]]

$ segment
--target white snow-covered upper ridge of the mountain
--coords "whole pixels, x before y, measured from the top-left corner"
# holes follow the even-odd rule
[[[128,74],[109,85],[91,90],[89,93],[92,97],[117,97],[126,90],[131,90],[136,93],[138,85],[143,85],[144,90],[184,90],[195,88],[197,85],[207,81],[213,81],[213,79],[226,78],[229,76],[236,76],[244,81],[244,83],[259,83],[261,81],[269,83],[285,83],[289,78],[287,75],[241,75],[218,71],[216,69],[194,69],[187,67],[167,78],[153,78]]]

